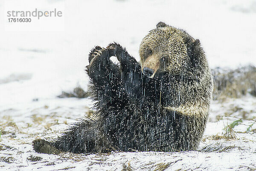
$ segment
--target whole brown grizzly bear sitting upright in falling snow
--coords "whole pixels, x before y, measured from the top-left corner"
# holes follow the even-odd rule
[[[116,56],[120,64],[111,62]],[[93,48],[87,73],[95,119],[74,123],[55,140],[33,141],[35,151],[58,154],[195,150],[204,133],[212,75],[198,39],[157,24],[142,40],[140,63],[119,44]],[[151,64],[148,61],[155,61]],[[152,78],[143,67],[154,67]]]

